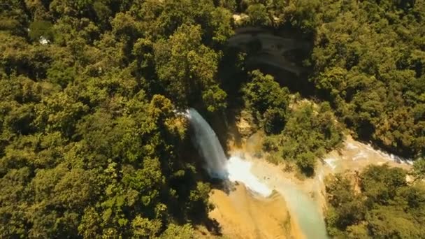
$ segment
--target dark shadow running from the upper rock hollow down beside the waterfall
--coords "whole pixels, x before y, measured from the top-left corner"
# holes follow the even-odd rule
[[[305,98],[315,96],[315,86],[308,81],[311,68],[303,61],[312,51],[312,37],[293,29],[267,29],[241,27],[229,38],[227,48],[219,65],[219,79],[227,93],[226,113],[207,116],[220,143],[227,152],[226,142],[233,140],[236,147],[242,143],[236,122],[243,110],[241,87],[247,82],[248,72],[259,69],[273,75],[290,92]],[[240,53],[245,59],[240,60]]]

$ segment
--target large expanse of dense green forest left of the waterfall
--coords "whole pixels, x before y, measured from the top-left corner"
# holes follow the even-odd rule
[[[210,186],[182,157],[176,112],[226,108],[217,68],[231,12],[210,1],[0,5],[0,238],[193,238]]]

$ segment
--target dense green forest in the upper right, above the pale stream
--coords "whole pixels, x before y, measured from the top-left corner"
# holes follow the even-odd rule
[[[424,154],[424,1],[323,1],[312,82],[363,140]]]

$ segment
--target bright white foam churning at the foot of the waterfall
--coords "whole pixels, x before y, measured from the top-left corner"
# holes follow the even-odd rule
[[[272,190],[251,173],[251,163],[238,156],[232,156],[227,161],[227,173],[231,182],[243,182],[245,186],[261,196],[270,196]]]

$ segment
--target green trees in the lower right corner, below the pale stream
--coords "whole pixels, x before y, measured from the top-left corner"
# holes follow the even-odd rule
[[[425,189],[408,185],[401,168],[369,166],[360,192],[342,175],[329,178],[326,226],[336,238],[424,238]],[[356,176],[355,176],[356,177]]]

